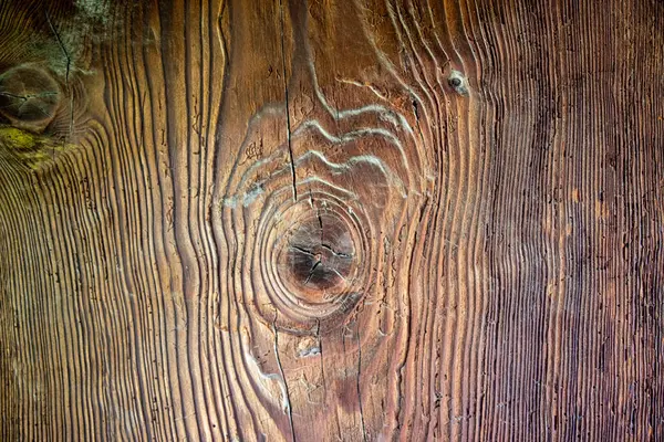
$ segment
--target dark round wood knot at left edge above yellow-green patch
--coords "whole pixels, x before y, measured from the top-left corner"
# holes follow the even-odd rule
[[[58,82],[39,67],[17,66],[0,75],[0,115],[21,129],[44,130],[58,113],[61,95]]]

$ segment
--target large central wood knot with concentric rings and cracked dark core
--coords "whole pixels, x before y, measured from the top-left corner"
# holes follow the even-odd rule
[[[270,304],[293,332],[339,326],[364,293],[365,221],[333,194],[315,197],[284,201],[259,231]]]

